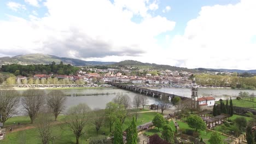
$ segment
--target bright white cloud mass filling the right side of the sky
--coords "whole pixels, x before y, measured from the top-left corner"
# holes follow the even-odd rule
[[[170,51],[173,59],[185,59],[183,67],[255,69],[256,1],[202,7],[200,15],[176,35]]]

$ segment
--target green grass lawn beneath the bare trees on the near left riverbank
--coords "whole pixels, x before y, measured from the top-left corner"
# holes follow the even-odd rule
[[[137,125],[147,123],[152,121],[153,117],[156,115],[156,112],[146,112],[146,113],[139,113],[138,119],[137,119]],[[57,118],[57,121],[63,121],[65,118],[64,115],[60,115]],[[127,117],[124,124],[123,124],[123,130],[127,129],[129,125],[131,124],[132,117]],[[24,123],[30,123],[30,118],[28,116],[20,116],[20,117],[12,117],[8,119],[8,121],[5,123],[5,126],[12,125],[13,122],[16,124],[20,122],[21,124]],[[103,127],[98,132],[99,135],[102,135],[103,132],[106,133],[106,135],[110,135],[108,123],[103,125]],[[27,124],[26,126],[33,126],[36,124]],[[55,137],[55,140],[53,139],[50,143],[75,143],[75,136],[72,133],[72,131],[69,130],[66,124],[56,124],[52,127],[53,130],[53,137]],[[88,141],[85,141],[89,139],[92,136],[96,136],[96,130],[94,125],[88,124],[85,126],[85,135],[80,137],[80,143],[88,143]],[[14,129],[15,130],[15,129]],[[8,131],[9,132],[9,131]],[[20,141],[26,140],[26,143],[40,143],[38,139],[38,129],[27,129],[22,131],[16,131],[8,133],[5,137],[5,140],[1,141],[1,144],[7,144],[7,143],[20,143]]]

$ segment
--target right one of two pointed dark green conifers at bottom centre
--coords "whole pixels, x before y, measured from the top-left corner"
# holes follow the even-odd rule
[[[137,144],[137,137],[138,137],[138,132],[136,127],[135,117],[133,117],[131,125],[127,129],[127,138],[126,138],[127,144]]]

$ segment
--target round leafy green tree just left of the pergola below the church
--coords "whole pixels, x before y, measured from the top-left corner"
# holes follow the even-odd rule
[[[203,130],[206,128],[205,122],[202,118],[196,115],[190,115],[187,119],[190,128],[197,130]]]

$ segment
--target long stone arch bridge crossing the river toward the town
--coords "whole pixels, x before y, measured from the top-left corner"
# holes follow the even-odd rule
[[[132,91],[132,92],[136,92],[136,93],[140,93],[140,94],[149,95],[149,96],[152,96],[154,98],[160,98],[162,100],[170,100],[174,97],[180,97],[182,100],[190,99],[190,98],[187,98],[187,97],[181,97],[181,96],[170,94],[170,93],[154,91],[154,90],[148,89],[148,88],[125,85],[123,83],[110,82],[109,84],[114,86],[114,87],[117,87],[117,88],[125,89],[125,90],[128,90],[128,91]]]

